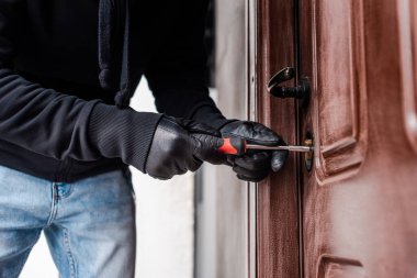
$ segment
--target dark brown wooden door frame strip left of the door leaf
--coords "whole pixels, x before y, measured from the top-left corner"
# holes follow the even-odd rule
[[[279,69],[295,63],[293,0],[256,1],[257,120],[272,127],[289,143],[296,142],[296,103],[268,93],[267,82]],[[293,81],[288,82],[289,86]],[[298,277],[300,225],[296,156],[290,155],[285,168],[271,173],[257,190],[257,277]]]

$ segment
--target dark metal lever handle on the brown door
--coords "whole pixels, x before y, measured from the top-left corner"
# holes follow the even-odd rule
[[[309,98],[309,81],[308,78],[303,77],[298,80],[296,87],[281,86],[282,82],[291,80],[295,77],[295,69],[285,67],[278,71],[268,82],[268,91],[273,97],[286,99],[295,98],[301,99],[303,102]]]

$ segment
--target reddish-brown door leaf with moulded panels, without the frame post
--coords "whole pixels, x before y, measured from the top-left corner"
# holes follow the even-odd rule
[[[304,277],[413,277],[415,4],[298,2],[300,135],[315,138],[313,170],[298,167]]]

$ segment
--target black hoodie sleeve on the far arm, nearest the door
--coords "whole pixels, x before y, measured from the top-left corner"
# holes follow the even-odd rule
[[[208,96],[204,47],[206,0],[176,4],[171,26],[145,73],[158,111],[218,127],[225,118]],[[199,111],[199,112],[198,112]],[[196,113],[198,112],[198,113]]]

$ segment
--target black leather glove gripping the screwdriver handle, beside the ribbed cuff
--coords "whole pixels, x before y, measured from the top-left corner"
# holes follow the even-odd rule
[[[223,164],[217,152],[221,133],[205,124],[162,116],[155,131],[145,171],[158,179],[170,179],[188,170],[195,171],[203,162]]]

